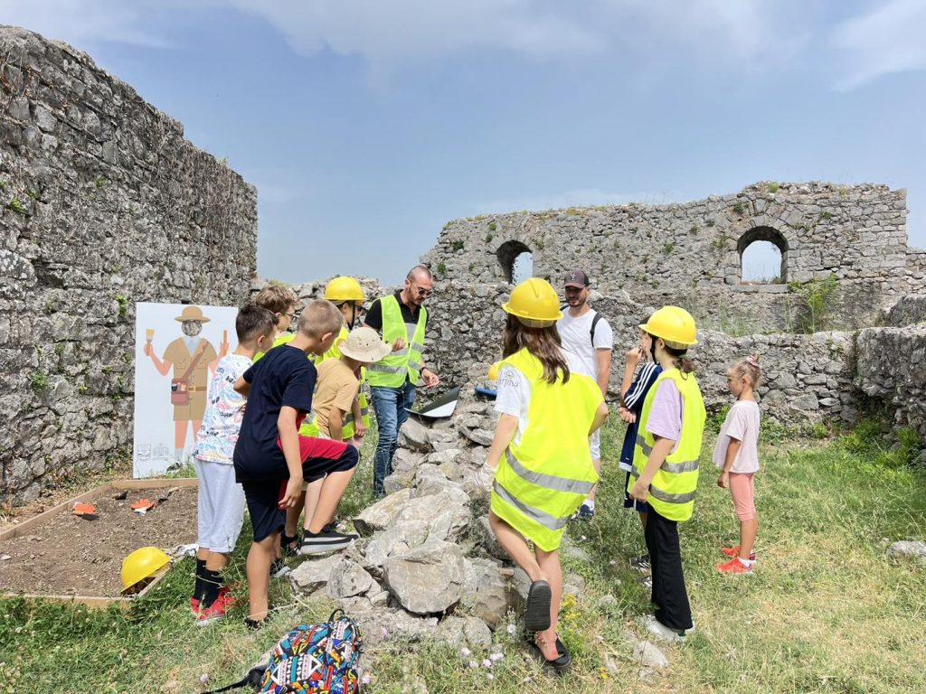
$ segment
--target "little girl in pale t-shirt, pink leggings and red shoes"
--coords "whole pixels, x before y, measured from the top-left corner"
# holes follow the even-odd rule
[[[717,564],[721,574],[749,574],[756,565],[758,515],[753,476],[758,470],[759,413],[753,390],[760,378],[758,354],[747,356],[727,371],[727,387],[736,396],[736,402],[720,428],[714,464],[720,467],[717,484],[730,490],[740,519],[740,543],[720,550],[731,557],[730,561]]]

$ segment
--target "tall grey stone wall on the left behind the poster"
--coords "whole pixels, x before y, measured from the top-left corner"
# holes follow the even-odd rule
[[[134,304],[238,304],[257,194],[64,43],[0,28],[0,502],[131,445]]]

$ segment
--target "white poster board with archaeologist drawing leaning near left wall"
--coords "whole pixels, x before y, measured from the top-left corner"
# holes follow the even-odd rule
[[[191,462],[215,364],[237,347],[238,309],[135,304],[135,316],[131,470],[132,477],[152,477]]]

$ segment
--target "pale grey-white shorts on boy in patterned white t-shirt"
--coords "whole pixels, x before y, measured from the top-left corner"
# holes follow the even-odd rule
[[[244,524],[244,488],[234,481],[234,465],[194,457],[199,477],[199,548],[229,554]]]

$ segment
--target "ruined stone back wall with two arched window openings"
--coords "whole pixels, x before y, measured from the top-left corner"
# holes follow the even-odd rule
[[[575,207],[449,222],[422,260],[441,279],[491,284],[511,279],[530,251],[533,275],[559,284],[584,268],[606,297],[678,304],[715,328],[795,328],[802,303],[789,282],[835,274],[831,328],[875,325],[896,300],[920,289],[923,252],[907,246],[907,196],[883,185],[758,183],[684,204]],[[751,243],[782,252],[779,282],[741,281]]]

